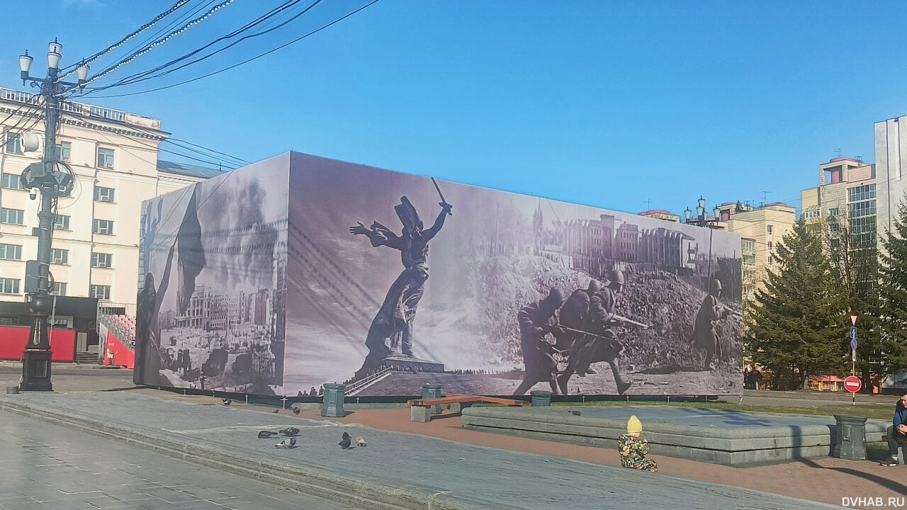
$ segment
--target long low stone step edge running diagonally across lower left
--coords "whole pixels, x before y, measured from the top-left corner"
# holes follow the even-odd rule
[[[317,495],[368,508],[386,510],[491,510],[482,503],[458,501],[446,491],[434,492],[414,485],[385,485],[362,481],[326,471],[319,466],[288,464],[267,455],[245,455],[190,441],[173,434],[146,427],[133,427],[122,422],[102,423],[95,418],[62,411],[55,407],[15,402],[0,398],[0,409],[17,414],[41,417],[64,427],[76,427],[94,435],[107,436],[130,446],[138,446],[166,456],[201,466],[213,467],[272,485],[289,488],[306,495]],[[210,443],[209,445],[215,445]]]

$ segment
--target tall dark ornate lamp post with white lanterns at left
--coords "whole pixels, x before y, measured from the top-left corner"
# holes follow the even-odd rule
[[[48,46],[45,78],[30,76],[28,72],[34,58],[27,51],[19,55],[22,83],[30,81],[32,86],[40,87],[44,99],[44,157],[41,162],[28,165],[22,172],[24,187],[41,192],[37,260],[29,260],[25,269],[25,292],[31,298],[29,311],[33,317],[31,334],[23,356],[22,379],[19,382],[19,389],[23,391],[54,389],[51,384],[51,344],[47,336],[47,317],[53,307],[50,296],[51,240],[54,236],[56,201],[73,189],[73,172],[58,158],[56,131],[60,122],[60,97],[73,87],[83,85],[88,74],[88,65],[81,64],[76,71],[79,83],[61,81],[58,75],[63,44],[54,39]],[[34,286],[31,284],[33,281]]]

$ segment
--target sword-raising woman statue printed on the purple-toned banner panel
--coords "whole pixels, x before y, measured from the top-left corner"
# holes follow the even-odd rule
[[[434,181],[434,179],[432,180]],[[437,182],[434,183],[435,189]],[[438,194],[441,195],[440,189]],[[444,227],[444,220],[452,215],[453,205],[444,201],[441,195],[441,212],[438,213],[431,228],[424,230],[422,220],[419,219],[415,207],[408,198],[402,197],[400,203],[394,206],[397,218],[403,224],[400,235],[378,223],[372,222],[367,227],[357,221],[357,225],[350,227],[350,233],[365,235],[372,241],[372,246],[386,246],[400,250],[400,258],[404,270],[387,290],[387,296],[381,309],[372,320],[366,337],[368,355],[362,368],[356,370],[356,378],[366,376],[369,370],[393,363],[406,367],[438,368],[434,361],[414,358],[413,355],[413,319],[415,309],[425,290],[425,281],[428,280],[428,241]]]

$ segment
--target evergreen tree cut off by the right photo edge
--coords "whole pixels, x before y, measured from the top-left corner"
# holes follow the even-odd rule
[[[879,321],[884,375],[907,368],[907,197],[879,253]]]

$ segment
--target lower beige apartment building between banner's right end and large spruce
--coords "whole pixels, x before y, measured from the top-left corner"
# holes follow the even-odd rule
[[[758,208],[740,202],[720,205],[718,226],[740,234],[743,297],[751,298],[763,284],[766,270],[775,266],[775,243],[794,230],[796,209],[784,203]]]

